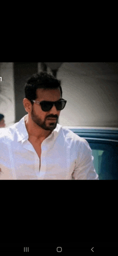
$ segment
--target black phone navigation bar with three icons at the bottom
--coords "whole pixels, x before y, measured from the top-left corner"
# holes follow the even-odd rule
[[[36,255],[37,253],[72,253],[72,255],[93,255],[105,252],[118,252],[117,243],[4,243],[0,244],[0,252],[2,253],[29,253]],[[85,254],[86,253],[86,254]],[[89,253],[89,254],[88,254]],[[90,254],[91,253],[91,254]],[[54,255],[53,254],[53,255]],[[61,255],[60,254],[60,255]],[[67,254],[68,255],[68,254]]]

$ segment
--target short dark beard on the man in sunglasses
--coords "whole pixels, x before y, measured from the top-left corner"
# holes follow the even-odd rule
[[[50,131],[53,131],[56,128],[56,125],[58,122],[58,117],[57,117],[57,120],[53,121],[53,120],[48,120],[48,116],[46,116],[45,120],[42,121],[41,118],[39,118],[39,116],[37,116],[34,113],[33,109],[31,112],[31,118],[32,118],[33,122],[36,123],[36,125],[38,125],[39,127],[41,127],[44,130],[50,130]]]

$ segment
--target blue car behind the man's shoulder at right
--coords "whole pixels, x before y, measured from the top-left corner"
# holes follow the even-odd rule
[[[89,143],[99,180],[118,180],[118,128],[65,127]]]

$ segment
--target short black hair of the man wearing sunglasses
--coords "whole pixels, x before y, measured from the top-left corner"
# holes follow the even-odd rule
[[[27,83],[25,84],[25,98],[31,101],[33,105],[33,101],[37,98],[36,89],[57,89],[60,88],[61,97],[62,97],[62,87],[61,81],[56,79],[51,74],[47,74],[47,72],[40,72],[33,74],[32,77],[27,79]]]

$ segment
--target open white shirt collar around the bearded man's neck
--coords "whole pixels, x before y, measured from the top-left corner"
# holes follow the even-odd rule
[[[26,126],[25,126],[25,117],[27,115],[23,116],[23,118],[20,119],[20,121],[18,122],[18,125],[16,127],[16,132],[17,132],[17,135],[18,135],[18,139],[17,141],[26,141],[28,140],[28,133],[27,133],[27,129],[26,129]],[[60,133],[60,130],[61,130],[62,126],[59,125],[57,123],[56,125],[56,128],[52,131],[52,133],[47,137],[47,138],[50,138],[51,136],[53,136],[54,134],[54,138],[57,137],[57,135]]]

